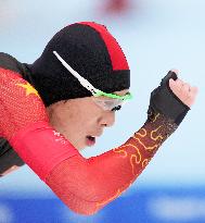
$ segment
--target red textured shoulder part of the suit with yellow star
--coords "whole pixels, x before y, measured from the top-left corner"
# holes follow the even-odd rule
[[[38,92],[17,73],[0,67],[0,136],[10,140],[37,122],[48,122]]]

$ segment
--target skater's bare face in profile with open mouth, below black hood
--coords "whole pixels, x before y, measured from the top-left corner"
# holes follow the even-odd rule
[[[128,89],[115,91],[124,96]],[[107,101],[105,97],[85,97],[69,100],[62,100],[47,108],[50,124],[63,134],[78,150],[91,147],[100,137],[104,127],[110,127],[115,122],[115,111],[120,109],[115,99]],[[99,102],[103,102],[104,107]],[[110,103],[107,103],[110,102]],[[111,108],[113,102],[113,110]]]

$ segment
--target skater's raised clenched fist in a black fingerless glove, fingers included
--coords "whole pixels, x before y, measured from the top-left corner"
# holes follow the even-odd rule
[[[194,103],[196,94],[196,87],[179,79],[177,71],[169,71],[159,86],[151,92],[148,113],[164,114],[179,125]]]

